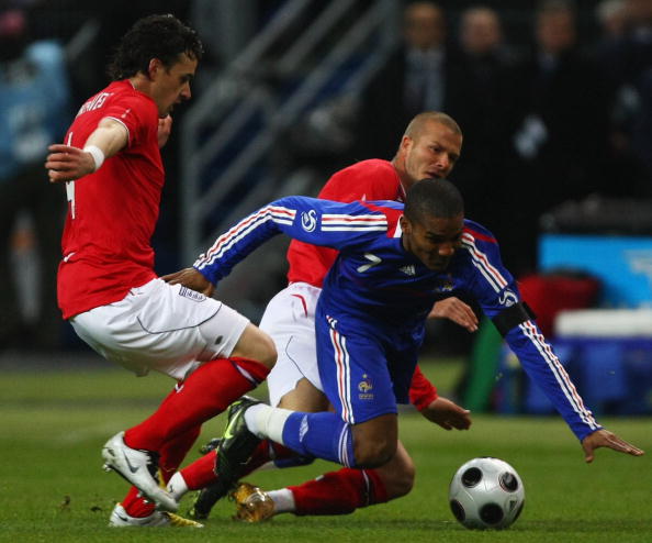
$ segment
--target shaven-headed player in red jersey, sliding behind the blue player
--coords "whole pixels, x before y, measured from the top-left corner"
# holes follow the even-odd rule
[[[392,162],[362,160],[337,171],[326,182],[319,198],[342,202],[403,201],[406,190],[417,180],[446,178],[460,156],[461,146],[462,133],[454,120],[440,112],[420,113],[407,126]],[[268,377],[271,406],[302,411],[328,409],[317,369],[314,310],[322,282],[336,255],[335,250],[327,247],[297,241],[290,244],[290,285],[269,302],[260,322],[261,330],[273,337],[279,353],[277,365]],[[188,279],[192,279],[195,273],[193,269],[182,270],[165,278],[193,287],[195,285]],[[477,319],[471,308],[457,298],[437,303],[430,317],[449,318],[470,331],[477,328]],[[471,423],[469,412],[439,397],[418,366],[412,381],[411,402],[424,417],[447,430],[466,429]],[[285,457],[286,454],[282,446],[266,441],[256,451],[248,469],[270,459],[288,465],[291,461]],[[290,452],[292,454],[295,453]],[[228,491],[228,487],[215,480],[212,464],[212,456],[206,455],[170,480],[169,489],[178,498],[189,488],[201,488],[214,480],[213,486],[204,489],[193,505],[191,516],[195,518],[205,518],[215,499]],[[400,443],[395,457],[380,468],[342,468],[317,480],[271,492],[272,498],[278,500],[272,511],[348,513],[358,507],[404,496],[411,490],[413,481],[414,464]],[[269,503],[263,501],[266,507]]]

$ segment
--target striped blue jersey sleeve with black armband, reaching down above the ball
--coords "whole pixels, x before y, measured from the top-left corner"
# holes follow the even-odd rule
[[[503,266],[498,244],[491,232],[471,224],[462,235],[462,246],[470,257],[468,284],[487,317],[493,318],[520,301],[516,281]],[[529,320],[515,326],[505,341],[528,377],[541,387],[580,440],[602,428],[584,406],[536,322]]]

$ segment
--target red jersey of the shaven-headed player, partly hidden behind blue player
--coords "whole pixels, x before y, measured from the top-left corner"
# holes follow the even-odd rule
[[[318,198],[338,202],[356,200],[403,201],[405,190],[392,163],[372,158],[334,174]],[[290,282],[308,282],[322,288],[324,277],[337,257],[337,251],[292,240],[288,250]]]

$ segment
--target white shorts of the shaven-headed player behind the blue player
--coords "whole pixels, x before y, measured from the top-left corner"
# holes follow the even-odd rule
[[[267,376],[270,406],[278,406],[304,377],[323,390],[315,344],[319,292],[321,288],[307,282],[294,282],[267,304],[259,328],[271,335],[278,352],[277,364]]]

